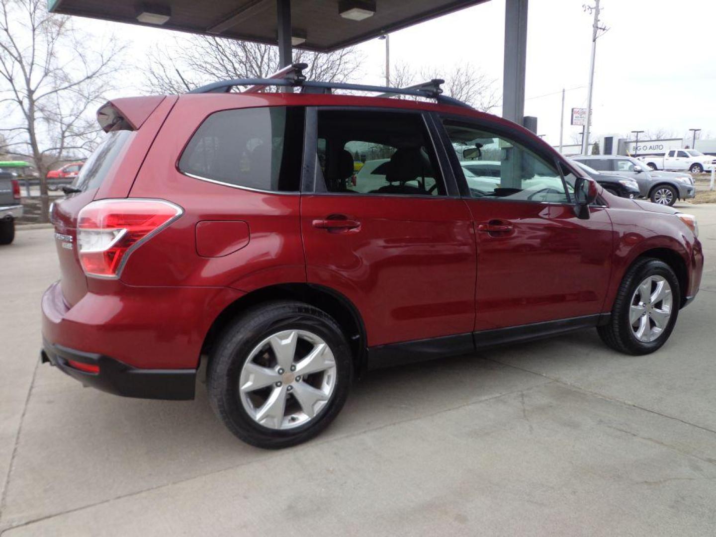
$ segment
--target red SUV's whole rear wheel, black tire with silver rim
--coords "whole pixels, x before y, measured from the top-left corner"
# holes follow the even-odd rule
[[[352,354],[334,319],[296,301],[248,309],[220,337],[209,401],[234,435],[259,448],[309,440],[344,405]]]

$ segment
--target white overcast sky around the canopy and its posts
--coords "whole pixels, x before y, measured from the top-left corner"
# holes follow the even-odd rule
[[[538,117],[538,134],[553,145],[559,140],[562,88],[569,90],[565,144],[581,130],[569,125],[569,110],[586,107],[592,16],[583,10],[584,3],[529,3],[525,114]],[[708,26],[711,22],[716,28],[716,2],[602,0],[601,6],[601,22],[609,31],[597,40],[592,132],[665,129],[680,137],[693,127],[716,137],[716,31]],[[490,0],[391,34],[391,63],[415,69],[469,63],[495,79],[501,93],[504,13],[504,0]],[[143,63],[145,47],[173,35],[140,26],[77,21],[88,31],[112,29],[129,39],[128,61],[137,67]],[[366,57],[365,82],[380,83],[384,42],[373,39],[359,49]]]

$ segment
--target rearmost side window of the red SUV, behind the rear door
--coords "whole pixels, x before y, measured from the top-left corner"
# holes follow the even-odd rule
[[[179,170],[243,188],[298,192],[303,133],[301,107],[215,112],[191,137]]]

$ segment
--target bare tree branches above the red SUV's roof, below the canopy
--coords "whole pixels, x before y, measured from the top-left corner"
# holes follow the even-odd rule
[[[306,77],[324,82],[354,81],[361,59],[353,48],[326,54],[294,51],[294,62],[309,65]],[[221,37],[178,37],[170,46],[149,54],[144,89],[177,94],[222,79],[266,78],[278,70],[279,50],[268,44]]]

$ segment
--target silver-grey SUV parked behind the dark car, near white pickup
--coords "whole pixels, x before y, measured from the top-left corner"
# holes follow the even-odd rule
[[[694,180],[688,173],[652,171],[644,163],[621,155],[577,155],[572,157],[600,172],[634,179],[639,185],[639,195],[661,205],[674,205],[676,200],[696,195]]]

